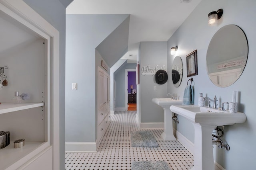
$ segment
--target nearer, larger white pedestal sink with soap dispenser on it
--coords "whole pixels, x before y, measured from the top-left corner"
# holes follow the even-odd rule
[[[191,170],[214,170],[212,131],[216,126],[244,123],[244,113],[229,113],[200,106],[171,106],[170,110],[194,125],[194,167]]]

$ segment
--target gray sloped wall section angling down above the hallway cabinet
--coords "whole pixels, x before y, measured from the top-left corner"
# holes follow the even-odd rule
[[[112,67],[128,49],[130,15],[96,49],[102,58]]]

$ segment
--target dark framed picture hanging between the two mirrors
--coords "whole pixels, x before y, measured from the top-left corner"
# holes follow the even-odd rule
[[[197,50],[186,55],[187,59],[187,77],[197,75]]]

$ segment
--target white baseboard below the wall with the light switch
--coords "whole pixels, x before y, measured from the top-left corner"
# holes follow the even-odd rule
[[[96,142],[66,142],[66,152],[97,152]]]

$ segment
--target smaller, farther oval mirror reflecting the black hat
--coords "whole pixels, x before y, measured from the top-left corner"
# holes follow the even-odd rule
[[[176,56],[172,63],[172,82],[175,87],[180,86],[183,75],[183,64],[180,56]]]

